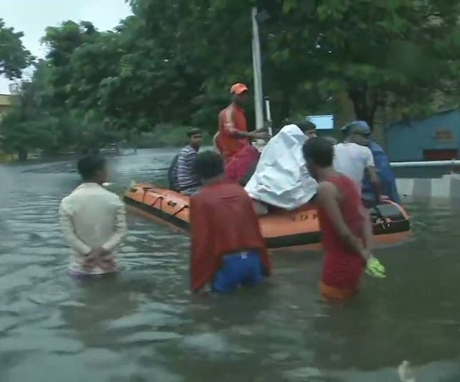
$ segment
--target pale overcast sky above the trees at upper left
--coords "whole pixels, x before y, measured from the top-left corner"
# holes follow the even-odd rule
[[[0,0],[0,9],[6,26],[24,33],[23,45],[36,57],[45,54],[40,38],[49,25],[91,21],[99,30],[109,30],[131,13],[125,0]],[[0,93],[9,93],[8,81],[1,76]]]

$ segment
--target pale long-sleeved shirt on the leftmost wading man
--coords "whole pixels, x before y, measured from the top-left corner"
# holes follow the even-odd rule
[[[86,274],[107,272],[98,265],[84,268],[84,255],[95,248],[109,251],[115,260],[117,246],[126,233],[125,204],[97,183],[83,183],[59,207],[59,223],[71,248],[70,270]]]

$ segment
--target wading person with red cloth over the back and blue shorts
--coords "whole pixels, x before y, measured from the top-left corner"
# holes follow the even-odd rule
[[[271,266],[251,198],[224,180],[224,161],[214,151],[198,154],[195,173],[204,187],[190,198],[192,291],[211,284],[229,293],[259,284]]]

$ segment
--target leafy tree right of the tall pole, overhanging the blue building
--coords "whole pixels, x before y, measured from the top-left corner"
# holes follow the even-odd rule
[[[456,1],[323,0],[314,13],[306,3],[283,1],[272,52],[282,52],[280,64],[295,63],[297,70],[299,56],[304,63],[308,57],[304,67],[316,78],[304,76],[304,86],[325,97],[345,91],[356,117],[371,126],[380,105],[427,108],[458,74]]]

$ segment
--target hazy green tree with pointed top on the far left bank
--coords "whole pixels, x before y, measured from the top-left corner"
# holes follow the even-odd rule
[[[5,148],[25,160],[35,149],[47,153],[62,149],[85,151],[119,141],[121,134],[105,129],[92,110],[83,112],[52,103],[53,71],[42,60],[35,65],[32,81],[23,83],[18,106],[2,121]]]

